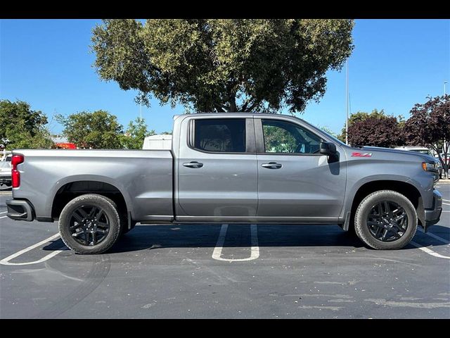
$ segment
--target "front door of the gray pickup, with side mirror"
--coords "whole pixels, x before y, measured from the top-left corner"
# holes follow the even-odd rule
[[[277,118],[255,118],[259,218],[337,220],[345,196],[345,165],[319,154],[321,137]]]

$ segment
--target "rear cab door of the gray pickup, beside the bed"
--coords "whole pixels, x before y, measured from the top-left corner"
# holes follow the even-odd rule
[[[184,121],[186,122],[186,121]],[[180,140],[179,220],[247,220],[257,208],[253,119],[189,118]],[[182,127],[181,134],[184,128]],[[186,142],[186,144],[185,144]]]

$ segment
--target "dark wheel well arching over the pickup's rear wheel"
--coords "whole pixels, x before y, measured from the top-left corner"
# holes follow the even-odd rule
[[[117,211],[120,214],[127,215],[127,204],[125,203],[124,196],[112,184],[97,181],[77,181],[65,184],[58,189],[53,199],[51,217],[53,219],[59,218],[66,204],[72,201],[72,199],[75,199],[75,197],[84,194],[99,194],[108,197],[117,204]]]

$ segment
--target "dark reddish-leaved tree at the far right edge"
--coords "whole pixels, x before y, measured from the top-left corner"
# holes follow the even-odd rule
[[[442,158],[440,153],[443,151],[444,154],[449,154],[450,95],[429,98],[425,104],[413,106],[410,113],[411,117],[404,124],[406,142],[434,149],[445,168],[447,159]]]

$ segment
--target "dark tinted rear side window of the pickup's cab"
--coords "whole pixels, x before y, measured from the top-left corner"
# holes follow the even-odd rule
[[[245,152],[245,118],[195,120],[195,149],[213,152]]]

